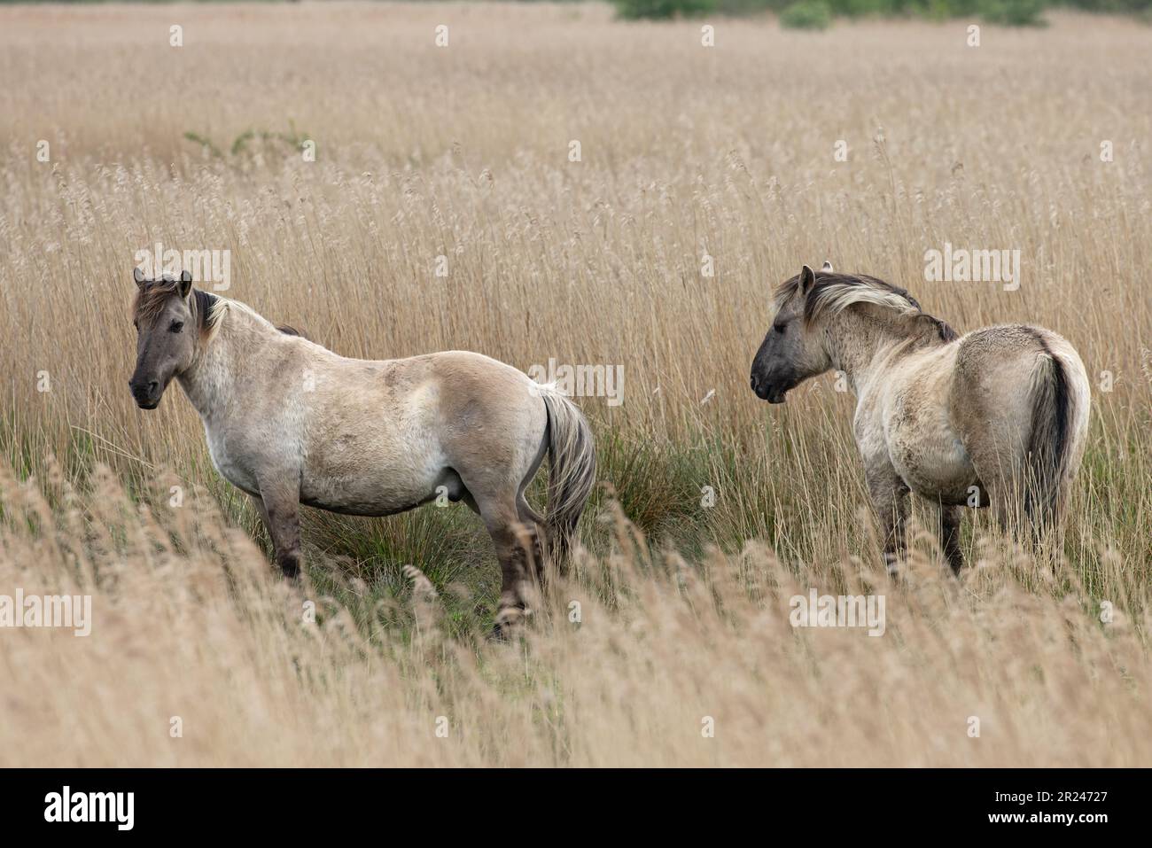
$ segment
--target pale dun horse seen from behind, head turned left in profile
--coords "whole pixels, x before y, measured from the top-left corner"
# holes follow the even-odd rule
[[[803,380],[844,372],[889,571],[904,552],[909,491],[939,506],[941,550],[956,573],[973,493],[1001,523],[1022,504],[1037,531],[1055,524],[1084,454],[1091,394],[1068,341],[1024,325],[957,335],[904,289],[828,263],[785,281],[775,309],[752,391],[782,403]]]

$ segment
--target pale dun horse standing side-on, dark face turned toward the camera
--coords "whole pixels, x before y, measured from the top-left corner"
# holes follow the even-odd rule
[[[562,561],[594,482],[592,432],[568,398],[475,353],[349,359],[194,289],[187,271],[135,277],[136,403],[156,409],[176,378],[217,470],[256,500],[285,575],[302,565],[301,504],[379,516],[445,494],[492,536],[497,631],[523,618],[545,550]],[[545,453],[547,518],[524,498]]]

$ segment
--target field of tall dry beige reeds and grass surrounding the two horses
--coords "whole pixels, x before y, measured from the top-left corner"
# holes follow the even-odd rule
[[[1049,18],[704,47],[599,5],[0,8],[0,595],[92,596],[89,636],[0,629],[0,765],[1152,765],[1152,28]],[[348,356],[619,369],[523,638],[485,638],[464,507],[310,512],[305,588],[273,574],[180,389],[129,395],[157,242]],[[945,243],[1020,250],[1018,290],[925,281]],[[1058,550],[973,510],[956,581],[917,512],[888,580],[851,398],[748,386],[824,259],[1076,346]],[[791,627],[810,588],[885,596],[885,634]]]

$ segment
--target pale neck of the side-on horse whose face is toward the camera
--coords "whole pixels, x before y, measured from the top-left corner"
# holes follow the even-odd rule
[[[244,392],[252,391],[243,384],[255,371],[260,348],[276,333],[263,318],[234,304],[228,305],[219,320],[192,364],[177,378],[205,422],[234,406]]]

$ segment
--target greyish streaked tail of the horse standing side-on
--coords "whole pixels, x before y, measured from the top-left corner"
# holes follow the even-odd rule
[[[552,386],[541,386],[548,412],[548,529],[553,560],[568,558],[576,524],[596,484],[596,447],[592,427],[579,408]]]

